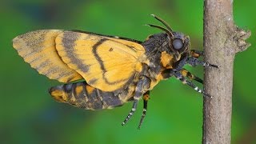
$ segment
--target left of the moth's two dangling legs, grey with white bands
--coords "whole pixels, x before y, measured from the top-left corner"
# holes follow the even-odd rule
[[[137,83],[134,94],[134,105],[130,110],[130,113],[127,115],[126,119],[122,122],[122,126],[129,121],[129,119],[133,116],[134,111],[137,109],[138,101],[142,98],[142,94],[145,93],[144,90],[147,90],[150,87],[150,78],[143,76]]]

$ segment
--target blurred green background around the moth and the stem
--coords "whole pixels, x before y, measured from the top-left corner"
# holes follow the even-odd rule
[[[157,14],[202,50],[202,6],[202,0],[1,1],[0,143],[201,143],[202,95],[175,78],[152,90],[146,120],[137,130],[142,102],[126,126],[121,122],[131,103],[90,111],[55,102],[47,90],[59,83],[23,62],[11,40],[30,30],[65,29],[143,41],[160,32],[143,26],[159,24],[150,17]],[[252,46],[234,63],[233,143],[256,143],[255,6],[254,0],[234,1],[234,21],[252,31]],[[202,67],[186,68],[203,78]]]

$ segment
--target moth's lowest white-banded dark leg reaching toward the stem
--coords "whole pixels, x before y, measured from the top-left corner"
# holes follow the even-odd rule
[[[211,96],[209,94],[206,94],[203,90],[201,90],[200,88],[198,88],[198,86],[195,86],[193,82],[191,82],[190,80],[187,80],[185,77],[182,76],[182,73],[178,70],[174,70],[174,76],[176,78],[178,78],[178,80],[182,81],[182,83],[192,87],[194,90],[198,91],[198,93],[203,94],[204,96],[210,97]]]

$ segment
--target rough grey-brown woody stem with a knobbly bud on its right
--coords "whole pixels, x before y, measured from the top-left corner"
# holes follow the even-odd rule
[[[220,66],[206,67],[202,143],[230,143],[233,65],[236,53],[246,50],[249,31],[233,21],[233,0],[204,1],[204,58]]]

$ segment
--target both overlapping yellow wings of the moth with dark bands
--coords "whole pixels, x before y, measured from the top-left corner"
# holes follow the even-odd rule
[[[40,74],[59,82],[84,78],[99,90],[114,91],[142,70],[142,45],[97,34],[35,30],[13,40],[14,48]]]

